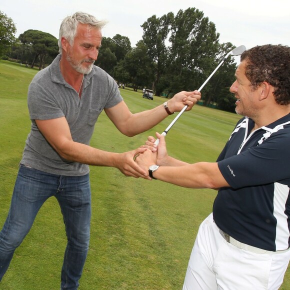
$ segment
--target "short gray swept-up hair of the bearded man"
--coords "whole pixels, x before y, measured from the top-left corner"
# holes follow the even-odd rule
[[[60,53],[62,52],[61,37],[64,37],[72,46],[78,23],[88,24],[93,28],[101,29],[107,23],[107,21],[97,20],[93,15],[87,14],[85,12],[75,12],[70,16],[66,16],[62,20],[59,28],[58,47]]]

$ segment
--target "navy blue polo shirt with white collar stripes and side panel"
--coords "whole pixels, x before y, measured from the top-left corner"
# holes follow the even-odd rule
[[[276,251],[290,246],[290,114],[251,132],[240,119],[217,158],[231,187],[213,203],[217,226],[240,242]]]

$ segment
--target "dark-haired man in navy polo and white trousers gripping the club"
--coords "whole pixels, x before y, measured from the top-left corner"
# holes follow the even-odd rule
[[[218,189],[213,212],[199,227],[183,290],[278,289],[290,258],[290,47],[244,51],[235,77],[230,91],[235,111],[245,117],[216,162],[174,159],[160,134],[157,153],[146,150],[136,158],[152,178]],[[146,146],[154,140],[150,136]]]

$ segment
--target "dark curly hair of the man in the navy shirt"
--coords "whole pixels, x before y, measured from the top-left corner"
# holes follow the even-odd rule
[[[266,44],[245,50],[240,60],[247,61],[245,75],[256,89],[263,81],[274,87],[277,104],[290,103],[290,47]]]

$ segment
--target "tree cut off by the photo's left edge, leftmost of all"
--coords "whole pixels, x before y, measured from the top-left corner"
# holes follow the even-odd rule
[[[0,56],[16,40],[15,33],[16,26],[13,20],[0,11]]]

